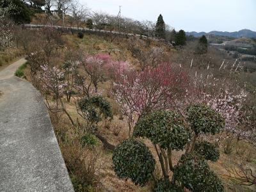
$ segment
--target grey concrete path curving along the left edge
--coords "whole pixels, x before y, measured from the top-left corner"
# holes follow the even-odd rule
[[[0,71],[0,191],[74,191],[40,93]]]

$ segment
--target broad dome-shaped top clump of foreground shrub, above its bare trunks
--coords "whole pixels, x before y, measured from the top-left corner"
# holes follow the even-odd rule
[[[182,150],[190,140],[184,119],[173,111],[156,111],[143,116],[134,127],[133,135],[148,138],[161,148]]]

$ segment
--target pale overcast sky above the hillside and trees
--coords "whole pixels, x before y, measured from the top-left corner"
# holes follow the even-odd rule
[[[92,11],[164,22],[185,31],[256,31],[256,0],[79,0]]]

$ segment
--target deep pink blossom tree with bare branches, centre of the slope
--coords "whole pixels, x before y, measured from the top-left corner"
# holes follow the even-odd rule
[[[185,91],[186,81],[184,72],[170,63],[141,72],[117,70],[113,92],[122,113],[127,116],[129,131],[136,118],[157,109],[173,108],[175,99]]]

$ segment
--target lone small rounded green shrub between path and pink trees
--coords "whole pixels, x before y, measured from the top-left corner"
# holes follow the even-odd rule
[[[102,118],[113,118],[111,106],[102,96],[84,97],[79,100],[78,106],[84,118],[92,123],[98,123]]]

